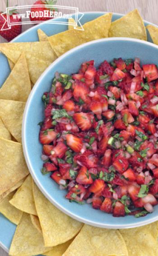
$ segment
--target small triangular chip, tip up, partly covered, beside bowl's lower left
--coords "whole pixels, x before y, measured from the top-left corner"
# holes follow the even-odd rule
[[[28,175],[23,185],[14,194],[14,197],[9,201],[14,207],[19,210],[37,215],[35,203],[33,199],[32,177]]]

